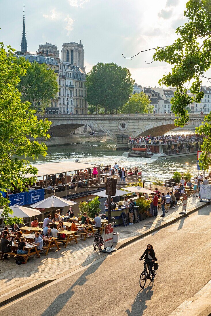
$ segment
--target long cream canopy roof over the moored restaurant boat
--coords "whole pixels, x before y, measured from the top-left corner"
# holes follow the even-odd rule
[[[84,163],[84,162],[53,162],[53,163],[43,163],[42,165],[33,165],[33,167],[36,167],[38,172],[35,175],[36,177],[42,177],[46,176],[48,174],[54,174],[54,173],[63,173],[63,172],[71,172],[76,170],[82,170],[88,168],[94,168],[99,167],[98,165],[93,165],[90,163]],[[26,178],[34,177],[33,174],[27,173]]]

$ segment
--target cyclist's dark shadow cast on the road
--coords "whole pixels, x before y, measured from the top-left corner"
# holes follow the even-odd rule
[[[125,312],[128,316],[141,316],[144,313],[144,310],[147,309],[146,301],[150,301],[153,295],[153,282],[151,282],[148,287],[140,290],[136,295],[136,298],[131,305],[131,311],[127,309]]]

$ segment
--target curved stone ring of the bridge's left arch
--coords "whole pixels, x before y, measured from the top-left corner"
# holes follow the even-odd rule
[[[66,120],[65,122],[63,120],[61,120],[61,121],[56,120],[56,121],[52,122],[50,131],[54,132],[54,127],[57,127],[56,128],[57,131],[58,131],[58,127],[61,127],[61,130],[64,130],[65,126],[69,126],[70,131],[74,131],[76,128],[83,126],[83,125],[88,125],[88,126],[92,127],[93,130],[99,129],[101,131],[104,131],[106,134],[108,134],[112,138],[114,143],[117,143],[117,137],[115,136],[115,134],[112,131],[110,131],[109,128],[107,128],[101,124],[94,123],[91,120],[74,120],[74,123],[71,119]]]

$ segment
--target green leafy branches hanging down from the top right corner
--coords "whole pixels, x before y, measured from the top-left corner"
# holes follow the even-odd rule
[[[189,0],[184,15],[188,21],[176,29],[179,37],[172,45],[165,48],[157,47],[154,60],[165,61],[174,65],[172,72],[165,74],[159,80],[167,87],[176,87],[173,112],[179,116],[176,125],[184,126],[189,115],[186,107],[192,103],[200,102],[203,97],[201,91],[201,78],[211,66],[211,4],[209,0]],[[187,95],[186,85],[192,81],[190,92]]]

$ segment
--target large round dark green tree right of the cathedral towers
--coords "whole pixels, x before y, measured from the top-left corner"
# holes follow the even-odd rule
[[[122,107],[132,93],[134,80],[130,71],[114,63],[98,63],[86,76],[87,101],[103,107],[105,113],[114,113]]]

